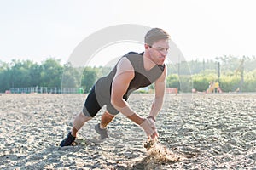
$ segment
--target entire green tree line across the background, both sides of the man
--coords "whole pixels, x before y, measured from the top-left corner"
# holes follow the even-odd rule
[[[220,63],[218,77],[217,64]],[[216,59],[182,61],[168,64],[166,84],[168,88],[191,92],[191,88],[205,91],[209,82],[218,81],[224,92],[241,88],[243,92],[256,92],[256,59],[234,56],[222,56]],[[10,88],[48,87],[48,88],[84,88],[88,93],[99,77],[105,76],[109,67],[73,68],[67,63],[61,65],[61,59],[49,58],[41,64],[32,60],[0,61],[0,93]],[[152,88],[152,87],[151,87]]]

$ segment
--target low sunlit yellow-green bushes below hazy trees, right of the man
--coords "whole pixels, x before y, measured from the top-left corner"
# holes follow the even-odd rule
[[[242,92],[256,92],[256,70],[246,72],[244,80],[241,83],[241,76],[230,74],[221,75],[219,79],[219,86],[223,92],[234,92],[236,88],[241,88]],[[178,91],[191,92],[192,88],[197,91],[206,91],[209,87],[209,82],[216,82],[217,75],[211,71],[195,74],[192,77],[189,75],[178,76],[177,74],[169,75],[166,78],[167,88],[178,88]],[[241,86],[242,84],[242,86]]]

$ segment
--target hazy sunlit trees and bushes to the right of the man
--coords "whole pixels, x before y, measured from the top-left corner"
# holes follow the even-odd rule
[[[218,70],[219,64],[219,70]],[[169,66],[167,87],[179,91],[207,91],[210,82],[219,82],[224,92],[256,92],[256,57],[224,55],[215,59],[183,61]]]

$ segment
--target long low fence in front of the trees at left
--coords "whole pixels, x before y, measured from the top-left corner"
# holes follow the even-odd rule
[[[49,88],[49,87],[29,87],[10,88],[6,94],[84,94],[83,88]]]

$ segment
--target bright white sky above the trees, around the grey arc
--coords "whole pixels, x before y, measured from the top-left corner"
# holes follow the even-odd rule
[[[0,13],[5,62],[54,57],[65,63],[84,38],[119,24],[163,28],[188,60],[256,54],[253,0],[0,0]],[[137,46],[112,48],[120,55]]]

